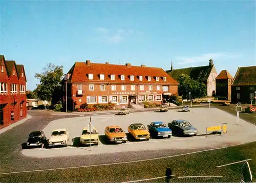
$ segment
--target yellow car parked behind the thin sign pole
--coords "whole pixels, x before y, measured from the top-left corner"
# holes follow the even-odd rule
[[[90,130],[87,127],[84,127],[82,130],[82,134],[80,136],[80,143],[84,145],[95,144],[99,145],[99,133],[95,127],[93,127],[93,131],[90,134]]]

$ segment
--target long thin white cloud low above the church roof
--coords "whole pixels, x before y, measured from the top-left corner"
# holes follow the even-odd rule
[[[179,61],[179,65],[184,65],[188,63],[197,63],[197,62],[205,62],[209,60],[210,58],[212,60],[218,60],[223,58],[230,58],[230,57],[237,57],[237,55],[232,55],[228,53],[207,53],[200,56],[195,57],[177,57],[177,60]]]

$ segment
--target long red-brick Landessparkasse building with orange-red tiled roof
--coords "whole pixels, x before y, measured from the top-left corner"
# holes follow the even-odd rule
[[[178,92],[178,82],[162,68],[103,63],[75,62],[62,80],[69,110],[73,110],[73,101],[81,104],[114,103],[127,107],[131,102],[143,101],[161,103],[162,95]]]

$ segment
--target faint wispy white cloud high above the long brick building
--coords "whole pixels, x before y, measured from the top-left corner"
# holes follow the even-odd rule
[[[104,34],[104,36],[99,36],[97,40],[107,42],[107,43],[119,43],[123,41],[125,38],[134,35],[134,34],[142,34],[141,31],[124,30],[117,29],[115,31],[110,31],[106,28],[97,28],[95,29],[98,33]]]

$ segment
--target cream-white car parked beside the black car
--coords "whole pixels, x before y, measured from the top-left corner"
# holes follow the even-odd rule
[[[56,129],[52,131],[49,139],[49,146],[65,146],[69,141],[69,132],[66,128]]]

